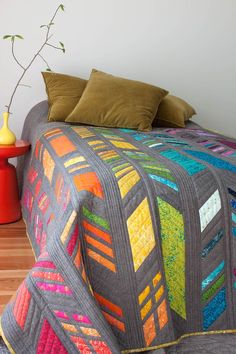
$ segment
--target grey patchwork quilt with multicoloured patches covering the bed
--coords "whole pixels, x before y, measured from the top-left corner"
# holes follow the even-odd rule
[[[236,332],[235,140],[64,123],[30,134],[22,206],[36,263],[1,319],[15,353]]]

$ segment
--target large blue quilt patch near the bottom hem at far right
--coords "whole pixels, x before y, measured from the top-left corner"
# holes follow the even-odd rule
[[[203,308],[203,330],[206,331],[226,309],[226,291],[222,288]]]

